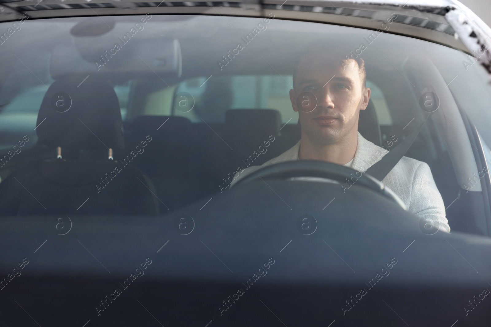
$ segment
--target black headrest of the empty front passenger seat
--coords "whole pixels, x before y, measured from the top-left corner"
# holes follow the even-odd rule
[[[106,82],[89,77],[56,80],[37,116],[40,143],[70,150],[123,149],[119,101]]]

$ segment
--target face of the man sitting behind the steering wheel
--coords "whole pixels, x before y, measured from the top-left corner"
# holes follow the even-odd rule
[[[359,110],[368,105],[370,89],[362,85],[358,64],[350,59],[343,66],[339,58],[323,54],[304,56],[297,66],[290,100],[293,110],[299,112],[302,136],[305,133],[317,144],[340,142],[356,133]],[[315,103],[315,99],[305,98],[303,92],[315,96],[315,108],[306,106]]]

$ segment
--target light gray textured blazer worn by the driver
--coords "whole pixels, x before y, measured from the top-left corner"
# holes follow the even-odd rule
[[[290,150],[283,152],[261,166],[246,168],[239,176],[234,178],[231,186],[239,179],[260,168],[279,162],[299,160],[300,142],[301,140]],[[358,145],[351,168],[364,173],[387,153],[389,151],[366,140],[358,132]],[[359,174],[357,175],[359,176]],[[428,164],[416,159],[402,157],[387,176],[383,178],[382,183],[401,198],[410,212],[419,217],[425,217],[427,222],[439,226],[442,231],[450,231],[448,220],[445,218],[445,205],[440,192],[436,188],[435,180]],[[348,184],[344,187],[347,186]]]

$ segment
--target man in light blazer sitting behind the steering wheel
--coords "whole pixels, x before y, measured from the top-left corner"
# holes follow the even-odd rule
[[[332,48],[310,50],[301,55],[296,66],[290,101],[299,113],[300,141],[263,165],[246,168],[234,176],[232,185],[262,167],[292,160],[323,160],[351,167],[359,177],[388,153],[358,132],[360,110],[366,109],[370,99],[363,59]],[[306,98],[304,92],[310,95]],[[410,212],[450,231],[443,200],[426,163],[403,157],[382,182]],[[347,187],[342,187],[346,192]]]

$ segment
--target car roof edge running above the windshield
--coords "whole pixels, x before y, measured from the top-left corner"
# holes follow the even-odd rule
[[[148,13],[267,17],[271,12],[279,19],[372,30],[395,13],[399,19],[386,33],[466,51],[491,74],[491,29],[457,0],[0,0],[0,22]]]

